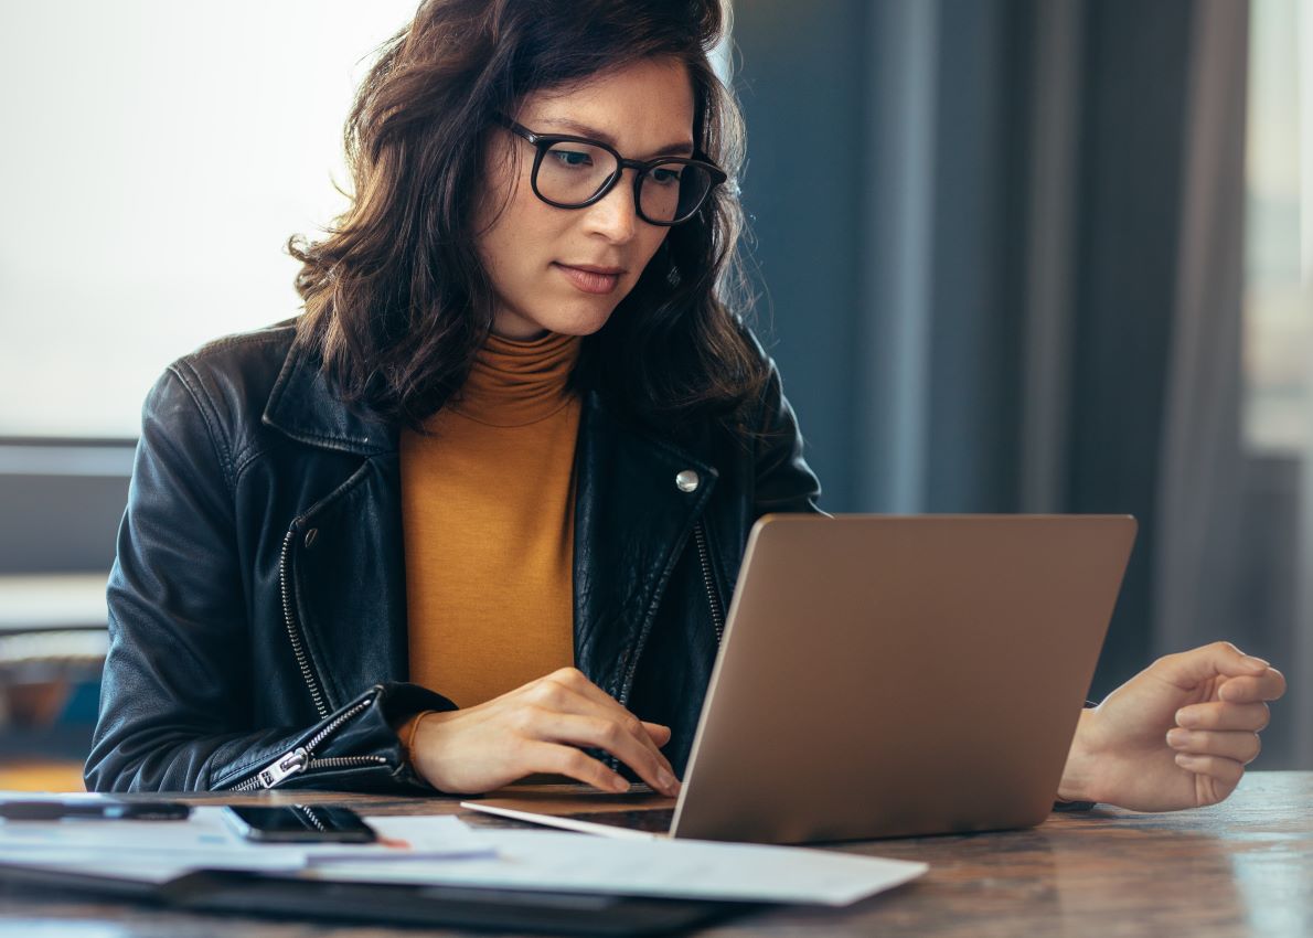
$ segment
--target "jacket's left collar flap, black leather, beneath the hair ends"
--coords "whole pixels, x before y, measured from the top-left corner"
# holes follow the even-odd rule
[[[312,447],[378,456],[397,452],[397,430],[334,393],[319,357],[293,344],[265,405],[263,423]]]

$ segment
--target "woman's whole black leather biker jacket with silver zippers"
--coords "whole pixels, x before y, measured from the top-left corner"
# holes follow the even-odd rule
[[[293,331],[215,342],[146,401],[92,791],[428,790],[393,726],[453,704],[406,683],[397,432],[343,406]],[[751,447],[660,439],[583,395],[575,663],[671,726],[681,774],[747,532],[815,511],[817,480],[773,367]]]

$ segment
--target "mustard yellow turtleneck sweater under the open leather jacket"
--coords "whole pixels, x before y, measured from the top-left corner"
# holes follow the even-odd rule
[[[490,336],[400,437],[410,677],[473,707],[574,663],[579,339]]]

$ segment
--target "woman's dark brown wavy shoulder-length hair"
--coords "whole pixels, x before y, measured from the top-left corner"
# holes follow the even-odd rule
[[[712,70],[718,0],[427,0],[382,46],[345,126],[351,206],[318,242],[293,236],[305,300],[297,342],[344,401],[420,428],[460,391],[492,323],[475,248],[483,154],[499,112],[647,58],[692,79],[693,142],[730,175],[672,227],[634,289],[583,343],[575,381],[675,427],[692,415],[743,430],[767,365],[735,305],[747,293],[734,180],[743,123]],[[746,431],[744,431],[746,432]]]

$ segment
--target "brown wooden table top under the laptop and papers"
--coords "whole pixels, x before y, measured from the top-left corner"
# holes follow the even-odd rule
[[[454,800],[290,793],[374,815],[457,811]],[[209,800],[205,796],[198,801]],[[251,800],[251,799],[247,799]],[[1174,815],[1053,815],[998,834],[878,841],[855,853],[926,860],[930,874],[847,909],[781,906],[706,934],[1313,934],[1313,772],[1250,772],[1226,803]],[[0,892],[0,935],[151,938],[452,934],[201,917],[74,896]]]

